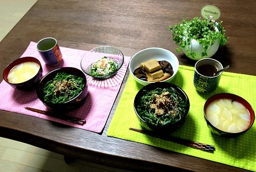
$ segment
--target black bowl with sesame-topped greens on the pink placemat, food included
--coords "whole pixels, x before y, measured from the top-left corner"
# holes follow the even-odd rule
[[[36,93],[50,110],[72,110],[80,106],[88,94],[86,76],[77,68],[58,68],[42,78]]]

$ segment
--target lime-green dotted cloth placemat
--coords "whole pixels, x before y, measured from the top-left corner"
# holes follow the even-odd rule
[[[107,135],[157,146],[207,160],[256,171],[256,124],[238,138],[222,138],[212,134],[204,120],[203,107],[206,100],[217,93],[228,92],[246,99],[256,109],[256,76],[223,72],[220,85],[211,94],[196,92],[193,85],[194,68],[180,66],[172,83],[180,86],[190,100],[190,111],[186,122],[172,136],[214,145],[214,154],[164,141],[129,130],[142,128],[134,112],[133,103],[137,92],[143,87],[130,75],[122,93]]]

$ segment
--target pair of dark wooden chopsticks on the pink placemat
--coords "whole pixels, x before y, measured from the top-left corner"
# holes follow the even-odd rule
[[[79,118],[74,118],[72,116],[65,116],[64,114],[58,115],[58,114],[54,114],[54,112],[48,112],[48,111],[44,111],[44,110],[40,110],[40,109],[34,109],[34,108],[30,108],[30,107],[25,107],[25,109],[30,110],[32,112],[37,112],[37,113],[40,113],[40,114],[44,114],[46,116],[54,117],[54,118],[57,118],[57,119],[60,119],[60,120],[65,120],[65,121],[68,121],[68,122],[72,122],[72,123],[82,125],[82,126],[86,123],[86,120],[82,120],[82,119],[79,119]]]

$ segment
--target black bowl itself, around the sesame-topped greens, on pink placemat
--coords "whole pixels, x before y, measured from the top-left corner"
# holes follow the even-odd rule
[[[59,104],[53,104],[53,103],[46,102],[46,101],[44,101],[44,93],[43,93],[44,85],[48,81],[52,80],[56,76],[56,74],[59,72],[65,72],[65,73],[72,74],[72,75],[79,76],[79,77],[83,78],[84,79],[84,88],[76,97],[74,97],[73,99],[71,99],[67,102],[59,103]],[[64,68],[55,69],[55,70],[49,72],[48,74],[46,74],[44,76],[44,78],[42,78],[42,80],[38,84],[36,94],[37,94],[38,98],[44,103],[44,105],[47,108],[49,108],[50,110],[53,110],[56,112],[73,110],[74,108],[77,108],[84,102],[84,100],[88,94],[88,84],[86,81],[86,76],[85,76],[84,72],[82,72],[81,70],[79,70],[77,68],[64,67]]]

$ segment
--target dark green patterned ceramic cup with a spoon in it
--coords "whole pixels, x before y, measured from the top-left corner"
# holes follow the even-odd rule
[[[220,83],[220,77],[221,77],[222,72],[220,74],[218,74],[216,76],[212,76],[212,77],[204,76],[197,71],[197,68],[204,64],[213,65],[216,68],[218,68],[218,70],[223,69],[223,66],[220,62],[218,62],[217,60],[214,60],[212,58],[204,58],[204,59],[198,60],[198,62],[196,62],[195,72],[194,72],[194,86],[196,87],[196,90],[198,92],[203,93],[203,94],[208,94],[208,93],[216,90],[216,88],[218,87],[218,85]]]

